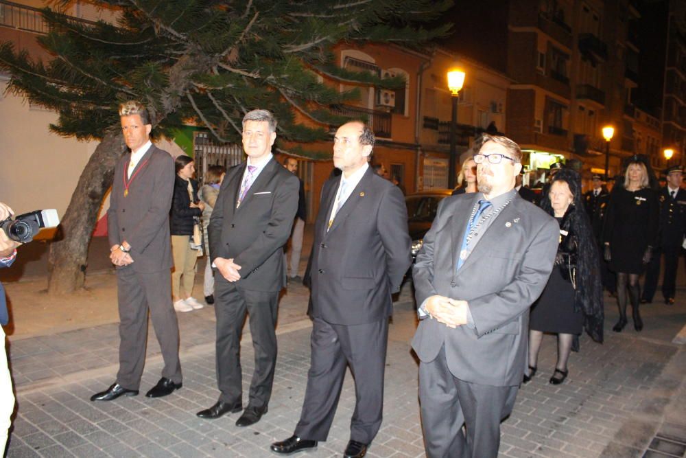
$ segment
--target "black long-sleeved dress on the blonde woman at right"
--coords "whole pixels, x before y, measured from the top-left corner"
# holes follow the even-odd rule
[[[655,247],[658,214],[657,195],[650,188],[612,192],[603,230],[603,241],[610,242],[612,271],[643,273],[646,248]]]

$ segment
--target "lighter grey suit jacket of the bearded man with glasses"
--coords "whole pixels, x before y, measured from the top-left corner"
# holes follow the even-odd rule
[[[488,227],[459,271],[458,251],[478,194],[445,198],[414,266],[417,304],[431,295],[469,303],[475,329],[423,319],[412,347],[430,362],[445,345],[456,378],[481,385],[519,385],[526,365],[529,308],[555,259],[559,227],[518,194]]]

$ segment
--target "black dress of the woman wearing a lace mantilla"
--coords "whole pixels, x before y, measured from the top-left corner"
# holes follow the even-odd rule
[[[555,218],[558,223],[562,218]],[[568,260],[572,259],[573,241],[561,236],[558,255],[550,273],[545,289],[534,303],[529,316],[529,328],[534,331],[556,332],[560,334],[581,334],[584,314],[574,311],[575,290],[569,275]],[[565,243],[567,242],[567,243]]]

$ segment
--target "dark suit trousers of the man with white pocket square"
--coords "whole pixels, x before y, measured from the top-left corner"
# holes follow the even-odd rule
[[[272,396],[276,365],[276,310],[278,291],[250,291],[215,276],[215,316],[217,317],[216,365],[220,401],[243,398],[241,379],[241,331],[248,313],[255,371],[250,382],[248,405],[264,407]]]

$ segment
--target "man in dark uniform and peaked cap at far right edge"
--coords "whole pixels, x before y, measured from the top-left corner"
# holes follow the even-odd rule
[[[686,233],[686,190],[681,189],[683,169],[681,165],[674,165],[667,169],[667,185],[659,192],[659,244],[653,252],[646,283],[643,285],[641,304],[652,302],[660,277],[660,262],[665,258],[665,274],[662,277],[662,294],[665,304],[674,304],[676,295],[676,268],[679,253]]]

